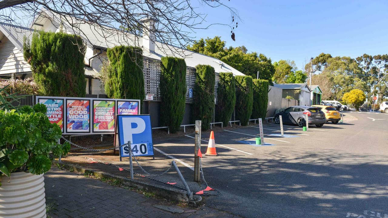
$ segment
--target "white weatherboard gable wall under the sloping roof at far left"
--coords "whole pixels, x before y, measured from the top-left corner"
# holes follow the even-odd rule
[[[31,72],[31,69],[24,61],[23,53],[4,36],[0,43],[0,75],[28,72]]]

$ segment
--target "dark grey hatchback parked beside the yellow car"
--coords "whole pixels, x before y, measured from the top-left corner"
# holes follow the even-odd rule
[[[300,127],[306,126],[306,114],[308,125],[322,127],[326,123],[324,112],[319,107],[292,106],[275,114],[275,123],[279,124],[279,116],[282,116],[283,123],[293,123]]]

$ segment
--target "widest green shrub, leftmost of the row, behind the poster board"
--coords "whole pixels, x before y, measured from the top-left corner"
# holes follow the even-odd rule
[[[80,36],[38,32],[24,42],[24,59],[38,92],[47,96],[85,97],[85,45]]]

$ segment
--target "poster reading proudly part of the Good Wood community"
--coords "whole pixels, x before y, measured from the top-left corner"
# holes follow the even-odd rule
[[[66,105],[66,132],[90,132],[90,100],[66,99]]]

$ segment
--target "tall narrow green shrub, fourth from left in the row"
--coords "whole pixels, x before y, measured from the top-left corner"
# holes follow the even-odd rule
[[[214,113],[214,68],[209,65],[196,66],[196,83],[194,87],[194,120],[202,121],[202,130],[208,130]]]

